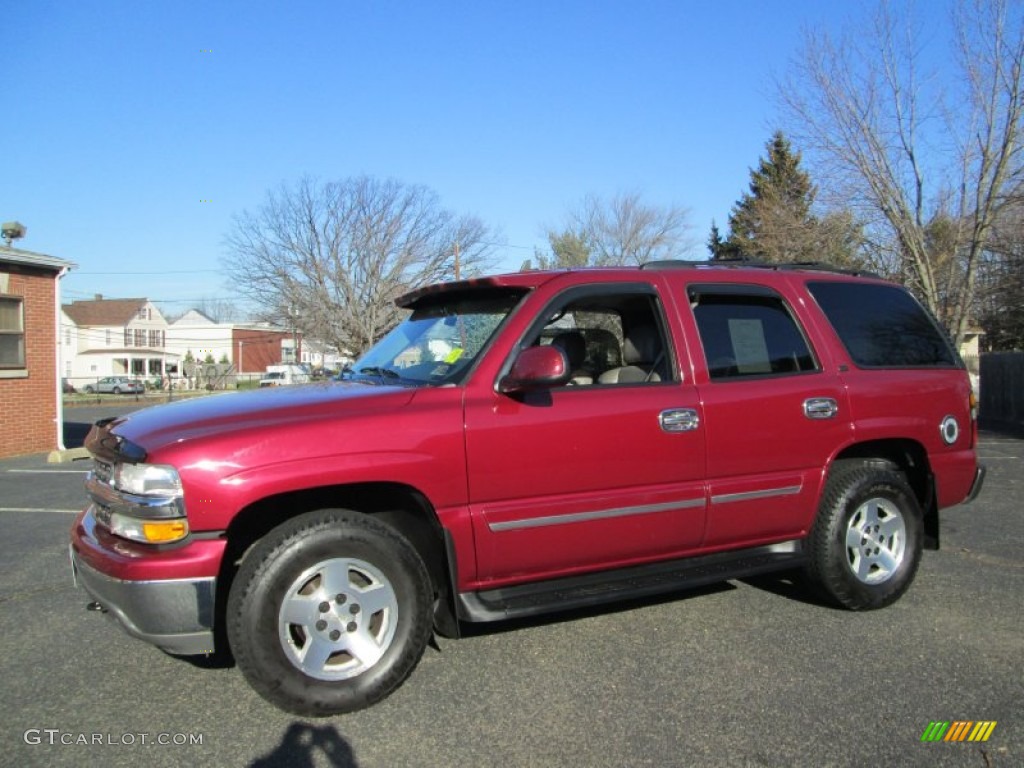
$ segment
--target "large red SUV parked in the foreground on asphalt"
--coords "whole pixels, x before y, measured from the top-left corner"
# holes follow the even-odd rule
[[[963,361],[874,276],[664,262],[398,304],[342,381],[92,428],[72,567],[106,615],[172,653],[226,638],[325,716],[463,623],[793,568],[882,608],[981,487]]]

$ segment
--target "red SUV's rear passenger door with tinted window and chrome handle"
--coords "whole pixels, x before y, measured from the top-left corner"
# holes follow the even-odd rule
[[[850,409],[793,302],[760,285],[691,284],[708,445],[705,546],[803,537]]]

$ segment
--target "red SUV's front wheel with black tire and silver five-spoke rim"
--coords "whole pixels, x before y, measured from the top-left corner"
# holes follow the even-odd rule
[[[271,530],[242,562],[226,606],[231,652],[249,684],[313,717],[394,691],[423,655],[432,618],[430,578],[413,545],[380,520],[338,509]]]

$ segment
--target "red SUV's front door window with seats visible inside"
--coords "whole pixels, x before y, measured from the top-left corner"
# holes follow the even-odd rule
[[[527,345],[534,344],[562,350],[571,372],[568,386],[674,379],[665,324],[655,297],[648,293],[570,293],[527,338]]]

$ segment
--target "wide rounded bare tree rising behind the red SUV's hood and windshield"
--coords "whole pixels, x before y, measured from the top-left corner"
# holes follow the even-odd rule
[[[400,318],[395,298],[474,273],[492,239],[424,186],[304,178],[234,218],[224,266],[264,317],[359,354]]]

